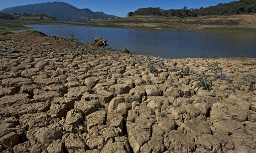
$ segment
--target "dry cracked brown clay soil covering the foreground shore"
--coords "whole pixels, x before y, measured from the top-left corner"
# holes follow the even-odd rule
[[[1,153],[256,152],[255,59],[160,67],[77,45],[36,31],[0,36]]]

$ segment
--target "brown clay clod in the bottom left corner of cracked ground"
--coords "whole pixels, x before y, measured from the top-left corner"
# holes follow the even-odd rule
[[[0,138],[0,143],[5,148],[13,148],[19,143],[18,135],[15,132],[11,132],[7,135],[4,135],[3,137]]]

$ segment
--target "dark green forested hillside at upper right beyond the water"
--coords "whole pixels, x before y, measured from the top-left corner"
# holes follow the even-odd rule
[[[163,10],[160,7],[139,8],[134,12],[129,12],[128,16],[132,15],[162,15],[162,16],[178,16],[178,17],[196,17],[205,15],[230,15],[256,13],[256,0],[239,0],[229,3],[219,3],[216,6],[191,8],[184,6],[182,9]]]

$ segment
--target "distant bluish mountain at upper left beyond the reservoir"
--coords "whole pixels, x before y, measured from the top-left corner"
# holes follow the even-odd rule
[[[0,12],[5,13],[36,13],[36,14],[47,14],[56,17],[58,20],[71,22],[71,21],[84,21],[90,19],[106,19],[116,18],[118,16],[108,15],[104,12],[93,12],[89,8],[79,9],[73,5],[65,2],[44,2],[37,4],[28,4],[22,6],[14,6],[4,8]],[[119,17],[118,17],[119,18]]]

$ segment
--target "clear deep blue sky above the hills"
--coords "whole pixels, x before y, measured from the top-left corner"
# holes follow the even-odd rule
[[[142,7],[160,7],[162,9],[180,9],[184,6],[200,8],[239,0],[1,0],[0,9],[32,3],[63,1],[77,8],[89,8],[106,14],[126,17],[128,12]]]

